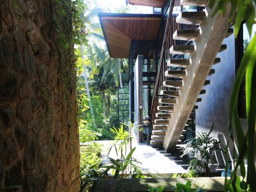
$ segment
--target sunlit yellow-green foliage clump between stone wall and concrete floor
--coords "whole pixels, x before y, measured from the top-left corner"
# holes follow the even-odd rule
[[[130,124],[127,126],[127,130],[124,129],[122,125],[119,129],[113,128],[111,132],[115,137],[115,141],[110,146],[106,157],[96,158],[99,157],[97,154],[99,151],[93,151],[90,149],[90,146],[87,147],[88,150],[85,155],[90,156],[90,166],[84,165],[81,169],[81,190],[85,191],[89,188],[93,188],[96,181],[98,179],[104,177],[112,177],[114,179],[124,179],[124,178],[145,178],[145,174],[150,175],[153,177],[154,175],[151,174],[147,169],[143,169],[138,164],[135,158],[132,157],[133,153],[135,152],[136,148],[132,148],[132,134],[130,131],[133,129],[133,125]],[[95,149],[93,147],[93,149]],[[117,158],[110,157],[110,151],[115,150]],[[82,151],[84,152],[84,151]],[[95,154],[96,153],[96,154]],[[82,153],[82,157],[85,156]],[[88,161],[89,157],[85,157],[85,161]],[[93,164],[94,163],[94,164]],[[79,179],[79,178],[77,178]]]

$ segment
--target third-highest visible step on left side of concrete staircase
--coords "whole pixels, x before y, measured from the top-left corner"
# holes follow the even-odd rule
[[[178,29],[173,34],[174,40],[194,41],[199,35],[199,29]]]

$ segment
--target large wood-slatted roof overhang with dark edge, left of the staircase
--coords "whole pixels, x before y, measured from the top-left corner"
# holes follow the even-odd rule
[[[132,40],[157,40],[161,15],[99,13],[99,21],[112,58],[129,58]]]

